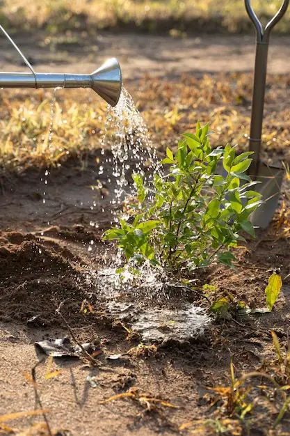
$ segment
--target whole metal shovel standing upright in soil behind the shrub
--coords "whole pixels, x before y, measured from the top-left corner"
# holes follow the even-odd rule
[[[250,220],[255,226],[266,228],[270,223],[279,201],[284,169],[279,166],[268,166],[260,160],[261,130],[263,125],[264,97],[266,87],[268,45],[270,32],[280,21],[289,6],[289,0],[284,0],[280,10],[266,24],[265,29],[259,22],[250,0],[245,0],[245,9],[256,29],[256,57],[254,86],[252,91],[252,114],[250,125],[249,150],[254,152],[252,164],[248,171],[252,180],[259,181],[257,191],[262,194],[264,203],[253,212]]]

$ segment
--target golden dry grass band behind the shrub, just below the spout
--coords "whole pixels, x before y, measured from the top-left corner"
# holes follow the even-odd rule
[[[290,75],[268,78],[263,137],[268,160],[290,160],[289,83]],[[214,146],[229,142],[243,149],[251,88],[252,75],[235,73],[186,76],[179,81],[146,77],[131,85],[130,92],[159,150],[176,146],[180,134],[191,130],[197,120],[209,122]],[[56,165],[72,154],[101,147],[106,104],[89,90],[61,90],[51,111],[52,98],[52,91],[1,92],[2,169]]]

